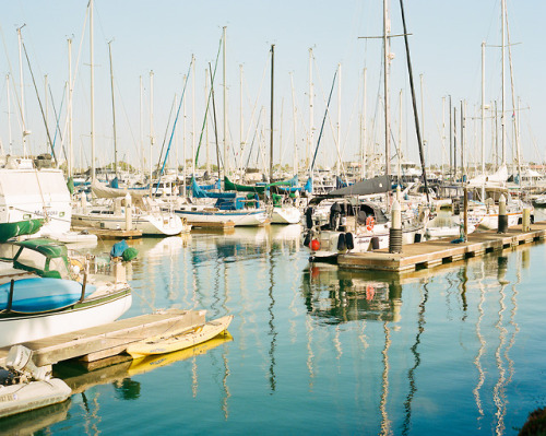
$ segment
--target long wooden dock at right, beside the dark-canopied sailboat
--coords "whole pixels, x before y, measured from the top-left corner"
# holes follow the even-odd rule
[[[342,268],[406,273],[479,257],[487,252],[500,251],[545,238],[546,222],[541,222],[532,224],[529,232],[522,232],[521,225],[510,227],[503,234],[499,234],[497,231],[475,232],[468,235],[466,243],[461,244],[451,244],[454,238],[450,237],[404,245],[401,254],[390,254],[389,249],[385,248],[341,255],[337,258],[337,263]]]

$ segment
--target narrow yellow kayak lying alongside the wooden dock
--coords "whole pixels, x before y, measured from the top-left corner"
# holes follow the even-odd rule
[[[209,341],[227,330],[233,315],[228,315],[170,337],[154,337],[144,341],[134,342],[127,347],[133,358],[154,354],[173,353]]]

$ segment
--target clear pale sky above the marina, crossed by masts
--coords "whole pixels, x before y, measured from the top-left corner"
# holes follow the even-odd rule
[[[501,143],[498,138],[495,145],[495,105],[490,104],[497,102],[500,126],[500,0],[406,0],[404,9],[407,32],[411,34],[410,49],[427,162],[449,164],[450,98],[452,107],[456,107],[459,150],[463,137],[466,162],[474,163],[480,158],[482,42],[487,44],[485,93],[487,105],[491,108],[486,115],[485,154],[488,162],[494,161],[500,154]],[[546,16],[546,2],[508,0],[507,10],[513,71],[511,74],[507,50],[507,160],[513,160],[515,140],[512,125],[513,119],[517,119],[522,160],[543,162],[546,91],[541,79],[542,71],[545,71],[545,58],[537,30],[542,28],[541,20]],[[301,166],[305,157],[314,153],[319,137],[319,166],[332,167],[337,156],[344,162],[357,161],[361,146],[367,146],[369,153],[376,153],[381,160],[384,150],[382,43],[381,39],[359,37],[382,35],[382,13],[381,0],[94,0],[96,165],[114,161],[108,43],[115,83],[118,160],[147,168],[153,130],[155,143],[152,146],[152,163],[157,164],[162,149],[165,151],[170,142],[173,165],[175,160],[179,163],[185,158],[190,160],[198,148],[207,98],[205,75],[209,74],[209,63],[214,69],[223,27],[226,27],[226,135],[222,54],[214,80],[214,95],[219,149],[223,152],[226,137],[230,167],[236,162],[237,165],[248,163],[254,167],[269,166],[270,62],[273,44],[275,164],[293,166],[297,158]],[[390,1],[390,15],[391,33],[402,34],[397,0]],[[71,38],[72,73],[75,75],[75,166],[90,165],[91,69],[86,17],[87,1],[13,0],[0,3],[0,72],[3,73],[3,81],[0,81],[0,139],[4,153],[10,152],[10,138],[12,154],[23,153],[22,94],[26,130],[32,131],[26,137],[28,152],[48,152],[44,117],[47,118],[51,138],[55,137],[56,153],[62,156],[62,145],[68,150],[68,98],[64,89],[69,71],[67,39]],[[16,28],[23,25],[22,39],[37,92],[24,54],[21,92]],[[390,107],[394,148],[391,154],[396,154],[400,149],[405,160],[418,162],[403,38],[391,39],[391,52]],[[195,60],[190,67],[192,56]],[[336,70],[339,73],[332,87]],[[173,119],[178,108],[174,106],[175,96],[179,102],[188,73],[185,104],[180,107],[176,133],[173,133]],[[5,80],[8,74],[9,81]],[[311,144],[310,75],[313,90]],[[519,117],[515,118],[511,82],[514,101],[520,107]],[[331,87],[332,98],[325,116]],[[44,116],[40,115],[36,93],[39,94]],[[460,131],[461,105],[465,114],[464,135]],[[170,115],[169,121],[171,111],[174,115]],[[364,113],[366,117],[361,121]],[[56,119],[60,133],[56,130]],[[323,120],[324,127],[321,129]],[[361,132],[361,126],[366,128],[365,133]],[[321,130],[322,135],[319,134]],[[203,134],[198,165],[205,162],[206,142],[210,144],[210,160],[215,163],[212,114],[206,132]]]

